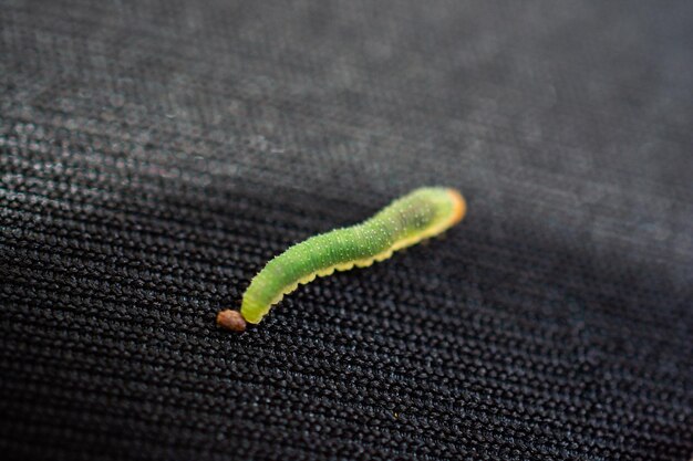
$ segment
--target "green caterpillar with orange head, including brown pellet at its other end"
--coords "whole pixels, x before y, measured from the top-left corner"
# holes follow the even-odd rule
[[[246,323],[259,323],[272,305],[299,284],[330,275],[335,270],[346,271],[354,265],[366,268],[386,260],[393,251],[456,224],[465,212],[465,199],[454,189],[416,189],[360,224],[335,229],[290,247],[252,279],[240,312],[221,311],[217,323],[242,332]]]

